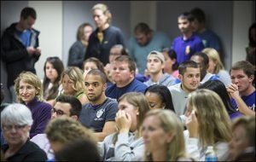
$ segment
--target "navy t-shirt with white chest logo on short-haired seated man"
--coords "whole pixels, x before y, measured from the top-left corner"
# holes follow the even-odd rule
[[[79,122],[87,128],[92,128],[95,132],[102,132],[104,124],[108,121],[114,121],[118,112],[118,103],[116,100],[107,98],[100,105],[84,104],[79,116]]]

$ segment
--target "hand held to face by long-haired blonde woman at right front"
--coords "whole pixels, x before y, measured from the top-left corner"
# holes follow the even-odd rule
[[[198,122],[195,115],[195,110],[192,110],[192,113],[189,114],[189,117],[186,119],[186,126],[189,130],[189,137],[198,137]]]

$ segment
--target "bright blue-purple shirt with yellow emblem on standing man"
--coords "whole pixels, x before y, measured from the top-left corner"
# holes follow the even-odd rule
[[[172,42],[172,47],[177,54],[177,63],[181,64],[183,61],[188,61],[195,52],[204,49],[204,44],[201,38],[193,34],[187,40],[183,40],[183,36],[175,38]]]

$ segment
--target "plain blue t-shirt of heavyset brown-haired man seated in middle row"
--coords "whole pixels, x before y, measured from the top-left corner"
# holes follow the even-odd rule
[[[116,84],[110,85],[107,90],[105,91],[105,95],[110,98],[119,100],[121,95],[124,95],[127,92],[142,92],[147,89],[147,85],[143,84],[142,82],[138,81],[136,78],[133,81],[126,85],[125,87],[119,88]]]

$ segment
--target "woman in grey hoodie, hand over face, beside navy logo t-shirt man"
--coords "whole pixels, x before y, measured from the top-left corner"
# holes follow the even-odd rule
[[[99,142],[103,160],[138,161],[143,159],[144,142],[141,132],[143,119],[149,111],[143,93],[128,92],[119,98],[116,114],[117,132]]]

